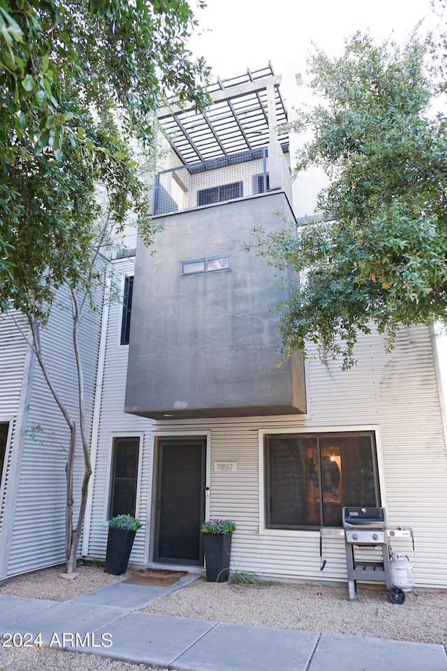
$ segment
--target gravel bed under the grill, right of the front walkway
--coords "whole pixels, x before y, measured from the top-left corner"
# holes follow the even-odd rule
[[[235,587],[196,580],[145,612],[263,627],[303,629],[400,641],[447,643],[447,593],[415,590],[393,605],[384,589],[275,583]]]

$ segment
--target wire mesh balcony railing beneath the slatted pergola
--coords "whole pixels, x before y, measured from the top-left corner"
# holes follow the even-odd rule
[[[233,201],[268,190],[268,156],[263,147],[159,173],[154,215]]]

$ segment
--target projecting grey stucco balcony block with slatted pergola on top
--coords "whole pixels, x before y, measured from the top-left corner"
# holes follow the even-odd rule
[[[161,421],[306,412],[300,354],[278,366],[275,308],[288,291],[265,259],[242,252],[254,226],[293,220],[280,80],[269,64],[218,80],[203,113],[159,110],[178,166],[156,178],[154,215],[173,216],[156,254],[138,247],[125,412]]]

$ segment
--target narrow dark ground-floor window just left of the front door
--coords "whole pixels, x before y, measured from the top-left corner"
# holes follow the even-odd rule
[[[110,517],[135,515],[139,443],[138,437],[113,440]]]

